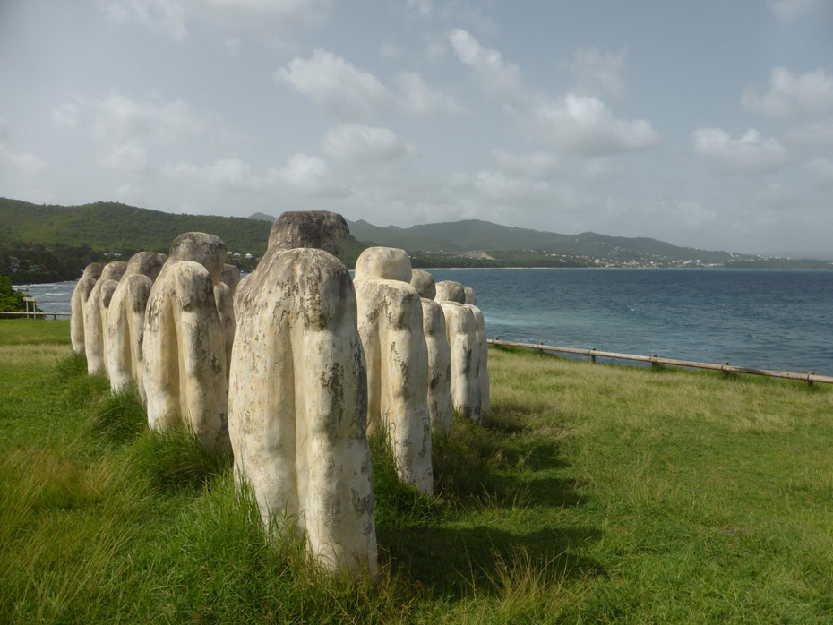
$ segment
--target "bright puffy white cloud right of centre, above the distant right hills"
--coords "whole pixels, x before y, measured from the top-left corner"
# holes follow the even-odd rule
[[[648,120],[616,119],[600,99],[573,93],[540,98],[519,119],[531,137],[586,156],[644,150],[660,142]]]

